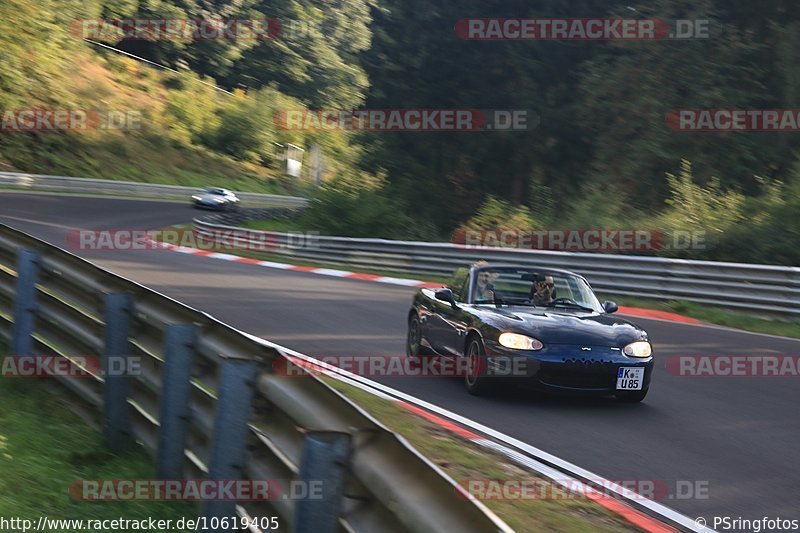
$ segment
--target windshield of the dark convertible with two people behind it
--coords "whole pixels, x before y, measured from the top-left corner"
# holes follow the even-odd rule
[[[559,309],[603,312],[583,278],[569,274],[508,267],[477,270],[472,279],[472,303],[502,302]]]

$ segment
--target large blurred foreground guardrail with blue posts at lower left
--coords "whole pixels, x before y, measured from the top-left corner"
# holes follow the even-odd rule
[[[6,225],[0,334],[12,354],[70,365],[75,354],[136,357],[129,375],[52,377],[109,446],[135,439],[150,450],[159,479],[326,484],[322,501],[207,502],[207,517],[278,516],[303,532],[509,531],[285,349]]]

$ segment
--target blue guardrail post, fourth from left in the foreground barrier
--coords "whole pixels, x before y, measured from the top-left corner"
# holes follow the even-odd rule
[[[219,387],[217,412],[214,419],[214,440],[211,443],[211,461],[208,478],[214,480],[241,480],[244,478],[244,450],[247,442],[247,423],[256,387],[257,362],[248,359],[224,358]],[[212,531],[227,531],[211,520],[236,516],[236,502],[209,501],[203,506],[203,516],[209,524],[217,524]]]

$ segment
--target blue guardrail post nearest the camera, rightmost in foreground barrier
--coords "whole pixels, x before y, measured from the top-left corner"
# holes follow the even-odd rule
[[[297,498],[295,533],[339,531],[339,508],[349,457],[349,434],[339,431],[306,434],[298,475],[302,494],[290,495]]]

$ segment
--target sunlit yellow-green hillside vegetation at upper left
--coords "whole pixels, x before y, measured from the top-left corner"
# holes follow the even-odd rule
[[[213,9],[172,1],[45,0],[34,5],[10,0],[0,4],[0,68],[4,72],[0,111],[36,106],[100,113],[136,111],[143,117],[141,129],[132,131],[0,133],[0,165],[4,170],[163,183],[207,183],[213,178],[223,179],[220,183],[230,187],[275,191],[283,185],[276,184],[278,180],[264,183],[264,178],[280,175],[283,149],[277,145],[292,143],[308,150],[314,143],[321,147],[323,179],[358,175],[355,169],[362,148],[354,144],[354,135],[276,131],[276,110],[302,109],[297,99],[272,86],[253,89],[250,84],[247,94],[236,89],[234,96],[216,88],[210,75],[221,77],[223,71],[217,66],[235,59],[231,54],[238,44],[221,43],[222,48],[214,50],[213,43],[208,48],[183,41],[116,43],[156,61],[183,62],[179,73],[169,73],[88,45],[75,32],[79,27],[71,25],[100,16],[234,18],[242,14],[265,18],[252,11],[252,5],[249,0],[229,5],[217,2]],[[356,17],[341,23],[363,25],[367,20]],[[345,44],[347,35],[341,32],[337,39],[353,53],[369,42],[359,38]],[[353,86],[348,90],[354,90]]]

